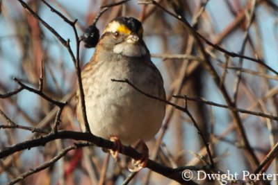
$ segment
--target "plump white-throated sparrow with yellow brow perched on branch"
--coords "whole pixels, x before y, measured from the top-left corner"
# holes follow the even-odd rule
[[[133,170],[147,166],[146,141],[154,138],[165,116],[165,89],[160,71],[142,39],[142,23],[134,17],[116,17],[104,28],[95,53],[81,70],[86,115],[95,136],[115,143],[111,155],[117,159],[122,145],[142,145],[142,157]],[[128,80],[134,87],[115,80]],[[82,130],[79,89],[76,115]]]

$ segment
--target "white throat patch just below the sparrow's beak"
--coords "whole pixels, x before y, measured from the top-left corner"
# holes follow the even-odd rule
[[[143,46],[140,46],[139,44],[128,44],[126,42],[115,45],[113,52],[128,57],[141,57],[147,54],[147,51]]]

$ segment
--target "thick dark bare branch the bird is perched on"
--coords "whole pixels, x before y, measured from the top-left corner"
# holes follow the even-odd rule
[[[17,143],[15,146],[6,147],[0,150],[0,159],[3,157],[7,157],[15,152],[19,152],[22,150],[26,150],[29,148],[34,148],[38,146],[44,146],[50,141],[54,141],[56,139],[74,139],[76,141],[89,141],[99,146],[101,148],[107,148],[111,150],[116,150],[115,145],[112,141],[102,139],[98,136],[94,136],[87,132],[74,132],[74,131],[58,131],[56,133],[47,134],[46,136],[40,136],[36,139],[32,139],[30,141],[24,141],[22,143]],[[120,151],[122,152],[122,151]],[[124,155],[129,156],[133,159],[140,159],[142,156],[141,153],[137,152],[135,149],[124,146]],[[208,170],[210,166],[183,166],[179,168],[170,168],[167,166],[163,166],[161,164],[156,163],[155,161],[148,159],[146,168],[153,170],[156,173],[159,173],[165,177],[170,179],[174,179],[181,184],[195,184],[195,182],[185,182],[182,178],[181,173],[183,170]]]

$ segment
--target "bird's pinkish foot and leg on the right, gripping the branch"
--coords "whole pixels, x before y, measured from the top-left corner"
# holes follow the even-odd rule
[[[137,161],[132,159],[131,163],[133,165],[133,169],[129,168],[131,172],[138,172],[147,166],[147,161],[149,159],[149,148],[147,148],[146,143],[144,143],[142,140],[140,140],[140,144],[142,146],[142,156]]]

